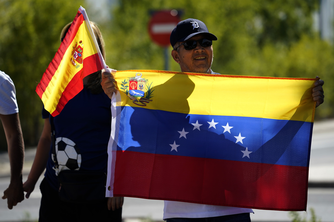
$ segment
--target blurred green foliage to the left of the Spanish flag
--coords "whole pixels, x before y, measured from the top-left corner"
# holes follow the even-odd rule
[[[36,86],[60,45],[63,26],[73,21],[79,7],[80,1],[0,1],[0,70],[14,82],[27,146],[37,144],[43,124]],[[0,149],[6,149],[4,132],[0,134]]]

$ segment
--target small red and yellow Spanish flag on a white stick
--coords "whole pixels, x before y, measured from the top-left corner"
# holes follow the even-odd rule
[[[80,6],[36,93],[52,116],[83,89],[82,79],[106,68],[86,11]]]

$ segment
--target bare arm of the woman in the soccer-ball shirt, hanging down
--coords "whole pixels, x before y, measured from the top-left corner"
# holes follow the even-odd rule
[[[34,162],[28,175],[28,179],[23,184],[23,189],[25,192],[27,192],[27,194],[25,195],[26,198],[29,198],[31,192],[35,188],[35,184],[38,178],[43,173],[46,167],[46,163],[49,158],[50,146],[51,146],[51,125],[49,122],[49,118],[46,118],[44,120],[42,135],[38,141]]]

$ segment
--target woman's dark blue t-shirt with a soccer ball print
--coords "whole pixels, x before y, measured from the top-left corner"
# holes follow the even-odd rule
[[[93,95],[89,89],[83,88],[68,101],[60,114],[54,117],[59,169],[70,167],[107,173],[110,106],[111,101],[104,92]],[[50,113],[44,108],[42,117],[50,117]],[[58,180],[53,167],[51,144],[44,175],[49,184],[57,189]]]

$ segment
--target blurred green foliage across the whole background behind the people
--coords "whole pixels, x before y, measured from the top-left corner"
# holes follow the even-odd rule
[[[164,49],[148,34],[149,10],[182,10],[182,20],[199,19],[217,36],[214,72],[319,76],[325,81],[325,103],[317,108],[316,120],[334,117],[334,48],[314,30],[317,0],[118,0],[108,19],[99,18],[102,14],[90,10],[85,1],[0,0],[0,70],[15,84],[26,146],[37,144],[43,125],[42,103],[35,88],[60,45],[62,27],[73,20],[80,5],[91,20],[98,20],[106,63],[113,69],[163,70]],[[170,71],[180,71],[171,56],[169,64]],[[1,149],[6,149],[3,132]]]

